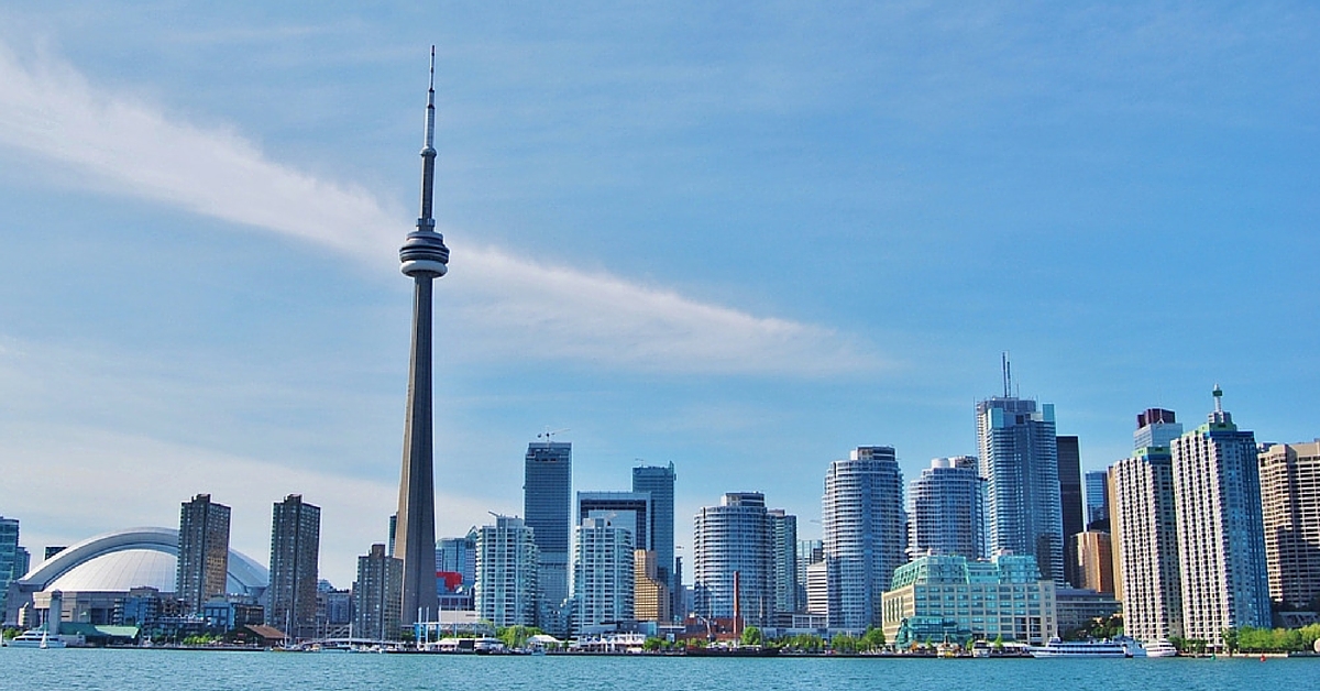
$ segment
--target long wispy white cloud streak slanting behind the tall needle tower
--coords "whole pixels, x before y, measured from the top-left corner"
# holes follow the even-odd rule
[[[269,160],[232,129],[180,122],[107,92],[73,66],[0,44],[0,147],[111,193],[268,230],[384,266],[407,211]],[[817,377],[879,366],[817,325],[759,317],[609,273],[458,242],[445,289],[473,357],[585,361],[644,371]]]

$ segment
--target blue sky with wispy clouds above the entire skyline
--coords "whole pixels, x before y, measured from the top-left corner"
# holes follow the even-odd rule
[[[438,532],[678,472],[818,534],[830,460],[974,452],[1012,354],[1082,465],[1214,383],[1320,435],[1311,3],[61,3],[0,9],[0,514],[261,560],[384,539],[436,44]],[[680,551],[684,554],[684,551]]]

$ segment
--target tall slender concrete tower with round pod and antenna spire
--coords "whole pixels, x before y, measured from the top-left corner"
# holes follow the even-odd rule
[[[412,363],[408,367],[408,412],[404,420],[404,466],[399,476],[395,558],[404,563],[400,621],[438,618],[436,601],[436,486],[432,466],[430,292],[449,271],[449,248],[436,233],[432,194],[436,182],[436,46],[430,48],[426,90],[426,135],[421,148],[421,214],[417,230],[399,250],[400,271],[413,280]]]

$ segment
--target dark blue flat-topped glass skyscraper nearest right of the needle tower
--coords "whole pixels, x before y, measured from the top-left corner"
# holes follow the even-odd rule
[[[573,444],[527,445],[523,515],[536,540],[537,625],[562,634],[560,608],[569,596],[569,528],[573,525]]]

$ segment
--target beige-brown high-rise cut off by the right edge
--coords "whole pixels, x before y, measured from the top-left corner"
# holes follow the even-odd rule
[[[1320,441],[1261,455],[1265,554],[1279,609],[1320,606]]]

